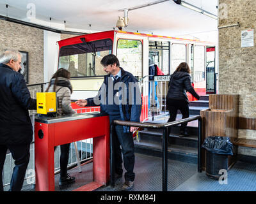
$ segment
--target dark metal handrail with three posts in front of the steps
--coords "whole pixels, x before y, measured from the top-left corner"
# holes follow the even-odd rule
[[[115,186],[115,161],[114,154],[115,149],[113,148],[113,131],[115,129],[115,125],[120,126],[132,126],[138,128],[154,128],[154,129],[163,129],[163,140],[162,140],[162,168],[163,168],[163,191],[167,191],[167,172],[168,172],[168,128],[183,124],[185,122],[191,122],[193,120],[198,120],[198,159],[197,159],[197,170],[198,172],[202,172],[202,161],[201,161],[201,143],[202,143],[202,117],[200,115],[196,115],[193,117],[189,117],[186,119],[176,120],[173,122],[166,122],[164,124],[154,124],[154,123],[142,123],[142,122],[131,122],[124,120],[113,120],[111,123],[111,132],[110,132],[110,182],[111,186]]]

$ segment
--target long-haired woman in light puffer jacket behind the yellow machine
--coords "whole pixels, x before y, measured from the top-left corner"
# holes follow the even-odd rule
[[[58,98],[58,115],[76,113],[70,105],[72,86],[70,84],[69,71],[63,68],[58,69],[58,71],[56,71],[56,73],[54,73],[54,75],[52,76],[49,87],[47,87],[45,92],[56,92],[56,97]],[[71,177],[70,174],[67,173],[69,148],[70,143],[60,145],[60,186],[75,182],[76,179],[75,177]]]

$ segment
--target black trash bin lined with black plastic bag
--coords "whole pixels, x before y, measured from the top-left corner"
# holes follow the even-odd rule
[[[230,138],[209,136],[205,138],[202,147],[206,149],[206,175],[211,179],[219,179],[219,171],[228,170],[228,155],[233,155]]]

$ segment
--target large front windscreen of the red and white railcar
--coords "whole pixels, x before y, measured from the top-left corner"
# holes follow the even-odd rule
[[[71,73],[71,77],[94,77],[106,75],[100,64],[105,55],[111,54],[110,39],[90,41],[61,47],[59,66]]]

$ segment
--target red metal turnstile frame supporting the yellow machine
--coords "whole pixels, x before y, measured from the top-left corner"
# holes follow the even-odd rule
[[[70,117],[72,120],[65,122],[35,119],[36,191],[54,191],[54,147],[88,138],[93,138],[93,182],[74,191],[92,191],[107,184],[109,117],[79,117]]]

